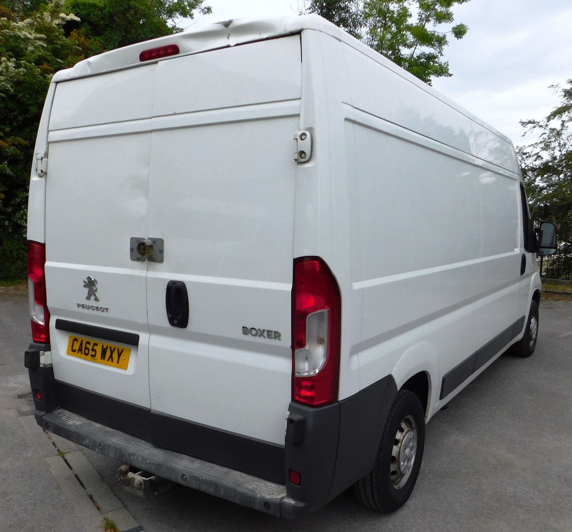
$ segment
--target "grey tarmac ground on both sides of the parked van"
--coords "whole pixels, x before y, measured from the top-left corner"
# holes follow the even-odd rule
[[[23,367],[29,342],[26,295],[14,290],[0,293],[0,530],[78,530],[49,472],[34,461],[29,447],[17,446],[15,419],[29,413],[22,407],[25,398],[17,402],[17,395],[29,391]],[[414,493],[391,515],[363,508],[351,491],[297,522],[178,485],[156,498],[142,499],[118,486],[118,462],[82,451],[146,532],[570,532],[572,301],[543,300],[533,357],[503,355],[435,415],[427,425]],[[28,527],[46,513],[45,528]]]

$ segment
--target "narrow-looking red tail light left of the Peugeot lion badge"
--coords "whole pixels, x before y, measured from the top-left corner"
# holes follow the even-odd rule
[[[49,343],[50,312],[46,301],[46,246],[28,242],[28,291],[34,342]]]

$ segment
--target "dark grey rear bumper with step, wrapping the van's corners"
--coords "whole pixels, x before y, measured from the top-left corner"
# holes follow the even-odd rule
[[[397,393],[387,375],[331,405],[291,402],[281,447],[166,415],[157,419],[149,409],[55,381],[51,366],[39,367],[42,350],[49,345],[30,344],[26,367],[31,389],[42,397],[34,394],[43,429],[158,477],[292,519],[370,473]],[[288,482],[291,470],[301,475],[299,485]]]

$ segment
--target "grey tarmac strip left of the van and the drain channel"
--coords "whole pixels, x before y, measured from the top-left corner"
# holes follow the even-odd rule
[[[23,362],[30,338],[27,285],[0,288],[0,530],[77,532],[81,519],[21,423],[34,413]]]

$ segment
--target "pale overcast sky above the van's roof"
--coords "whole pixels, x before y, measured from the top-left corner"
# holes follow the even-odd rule
[[[205,0],[213,14],[193,26],[240,17],[295,15],[297,0]],[[434,87],[508,135],[518,121],[541,118],[558,102],[548,88],[572,78],[571,0],[471,0],[455,7],[469,31],[445,51],[451,78]]]

